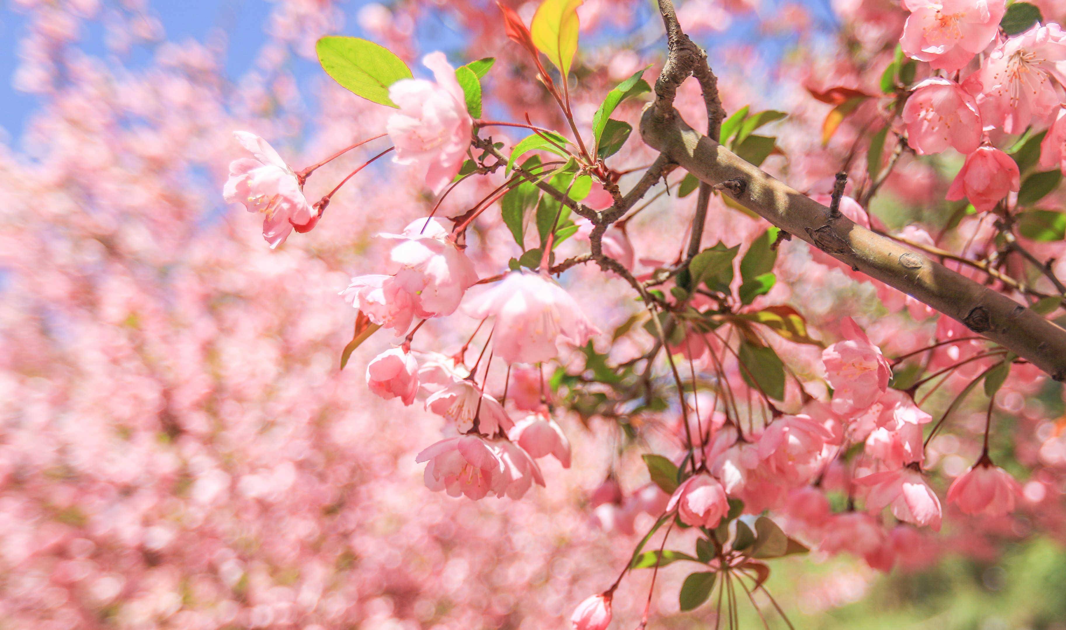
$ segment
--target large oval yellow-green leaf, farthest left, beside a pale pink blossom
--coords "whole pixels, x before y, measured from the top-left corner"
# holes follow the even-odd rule
[[[358,37],[330,35],[314,45],[319,63],[343,87],[367,100],[397,107],[389,85],[410,79],[410,68],[387,48]]]

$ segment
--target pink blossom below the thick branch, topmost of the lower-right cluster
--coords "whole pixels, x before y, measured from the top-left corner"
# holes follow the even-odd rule
[[[833,410],[854,415],[869,407],[888,388],[892,368],[852,318],[841,325],[843,341],[822,352],[826,377],[834,387]]]

